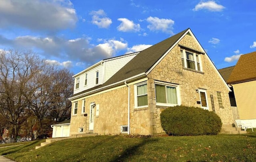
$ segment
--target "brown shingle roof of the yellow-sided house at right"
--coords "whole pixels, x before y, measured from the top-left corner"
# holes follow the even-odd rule
[[[256,51],[241,55],[230,77],[228,84],[256,80]]]

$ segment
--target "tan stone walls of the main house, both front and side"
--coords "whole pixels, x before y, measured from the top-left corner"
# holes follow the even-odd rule
[[[148,74],[148,107],[134,108],[134,84],[130,85],[130,133],[131,134],[156,134],[162,133],[160,113],[166,107],[156,105],[155,80],[178,84],[180,103],[187,106],[200,107],[196,89],[207,92],[209,111],[212,111],[210,95],[214,96],[215,112],[224,124],[233,123],[232,109],[228,98],[228,88],[206,55],[200,54],[202,72],[196,72],[182,67],[180,46],[202,51],[191,35],[186,35],[156,67]],[[202,51],[204,52],[204,51]],[[224,108],[218,105],[217,92],[221,92]],[[84,128],[84,133],[89,131],[90,103],[99,105],[99,116],[94,117],[94,133],[119,134],[121,125],[128,125],[128,87],[114,89],[105,93],[87,96],[86,113],[81,114],[82,99],[78,100],[78,114],[72,115],[70,121],[70,135],[78,134],[79,127]],[[96,109],[94,109],[96,115]]]

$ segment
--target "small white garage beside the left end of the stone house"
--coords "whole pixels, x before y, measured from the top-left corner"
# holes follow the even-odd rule
[[[60,123],[51,125],[52,130],[52,138],[56,137],[69,137],[70,132],[70,120],[65,120]]]

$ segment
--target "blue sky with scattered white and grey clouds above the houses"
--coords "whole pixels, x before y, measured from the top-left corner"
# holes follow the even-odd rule
[[[78,73],[190,28],[217,68],[256,51],[255,0],[0,0],[0,49]]]

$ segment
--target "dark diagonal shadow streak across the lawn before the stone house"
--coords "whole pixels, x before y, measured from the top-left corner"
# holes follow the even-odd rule
[[[110,160],[110,162],[122,162],[124,160],[130,159],[132,156],[134,156],[134,154],[143,154],[140,148],[142,148],[145,144],[157,142],[157,141],[158,139],[151,138],[151,137],[143,138],[143,140],[140,143],[127,148],[122,152],[121,155],[115,156],[112,160]]]

